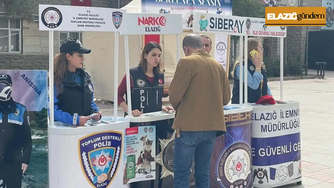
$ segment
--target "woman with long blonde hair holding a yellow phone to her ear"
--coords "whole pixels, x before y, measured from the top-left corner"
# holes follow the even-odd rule
[[[262,62],[263,46],[261,41],[257,38],[248,38],[248,67],[247,67],[247,92],[248,103],[256,103],[262,96],[271,95],[272,92],[267,82],[266,67]],[[243,59],[245,59],[243,57]],[[243,63],[242,63],[243,64]],[[232,89],[232,104],[239,104],[239,69],[240,62],[234,64],[233,69],[233,89]],[[242,65],[244,72],[244,66]],[[244,75],[244,73],[243,73]]]

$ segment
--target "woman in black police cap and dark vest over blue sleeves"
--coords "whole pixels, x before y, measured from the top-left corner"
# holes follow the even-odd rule
[[[83,126],[89,119],[100,120],[101,112],[94,102],[91,76],[82,68],[84,54],[78,39],[67,38],[54,56],[54,120]],[[89,117],[94,115],[93,117]]]

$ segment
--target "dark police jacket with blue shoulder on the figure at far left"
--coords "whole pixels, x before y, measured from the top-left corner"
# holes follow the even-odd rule
[[[9,108],[2,108],[7,104]],[[14,102],[0,102],[0,164],[29,164],[32,149],[27,109]]]

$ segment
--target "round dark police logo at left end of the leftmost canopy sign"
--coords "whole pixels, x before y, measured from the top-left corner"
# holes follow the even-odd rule
[[[41,15],[42,23],[48,28],[56,28],[62,22],[62,14],[55,7],[47,7]]]

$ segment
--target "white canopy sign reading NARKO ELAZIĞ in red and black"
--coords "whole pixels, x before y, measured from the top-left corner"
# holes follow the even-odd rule
[[[127,30],[122,35],[181,34],[182,14],[128,13]]]

